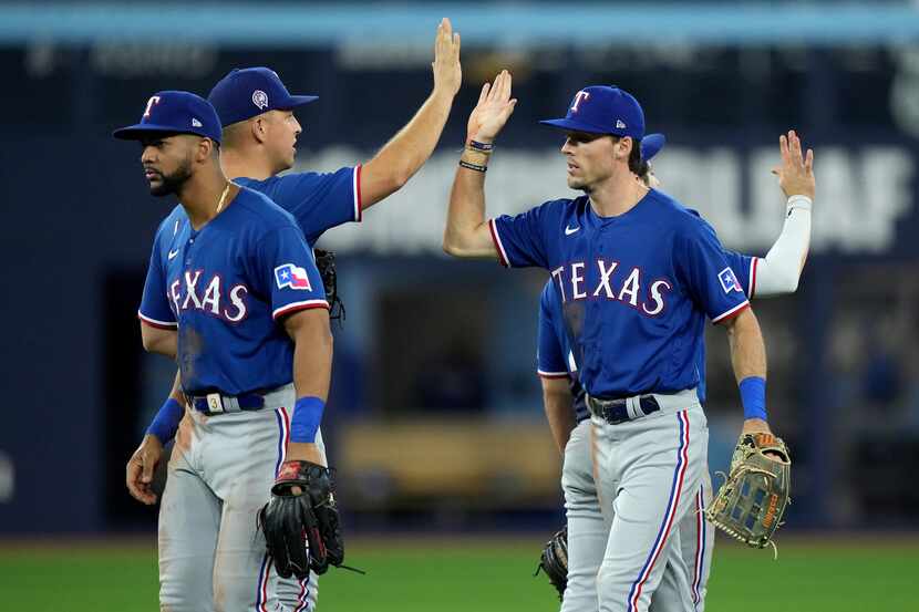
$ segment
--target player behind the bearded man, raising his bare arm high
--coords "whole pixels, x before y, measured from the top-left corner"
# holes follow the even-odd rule
[[[295,144],[302,131],[292,114],[293,110],[317,97],[291,95],[277,73],[267,68],[230,71],[208,96],[223,124],[224,172],[237,184],[266,194],[290,211],[310,247],[326,230],[348,221],[361,221],[363,209],[405,185],[433,153],[462,81],[460,43],[460,34],[453,32],[450,20],[442,20],[437,27],[432,64],[434,87],[428,98],[409,124],[370,162],[330,174],[277,176],[293,165]],[[147,324],[143,331],[148,350],[175,354],[168,330],[161,331]],[[179,426],[183,402],[177,376],[169,397],[156,417],[165,425],[149,432],[151,435],[144,438],[127,464],[126,479],[132,494],[135,490],[148,494],[153,473],[162,458],[163,444],[173,438]],[[187,424],[188,418],[182,419],[183,431]],[[266,481],[270,483],[270,479]],[[155,501],[152,494],[135,497],[148,504]],[[165,511],[165,507],[161,508],[161,514]],[[164,568],[161,564],[162,590],[167,589],[167,583],[180,580],[174,574],[174,569],[175,566]],[[272,583],[279,584],[277,598],[281,605],[313,609],[318,593],[314,574],[307,581],[298,582],[293,579],[275,580],[277,577],[270,564],[262,570],[271,572]],[[260,605],[271,609],[273,598],[262,599]]]

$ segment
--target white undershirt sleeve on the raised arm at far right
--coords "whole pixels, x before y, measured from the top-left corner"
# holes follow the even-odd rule
[[[810,208],[807,196],[792,196],[785,225],[775,243],[756,263],[754,294],[757,298],[794,293],[810,247]]]

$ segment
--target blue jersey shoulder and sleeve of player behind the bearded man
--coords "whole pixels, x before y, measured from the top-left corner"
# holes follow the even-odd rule
[[[268,196],[293,215],[310,247],[328,229],[361,220],[361,166],[329,174],[297,173],[235,183]]]

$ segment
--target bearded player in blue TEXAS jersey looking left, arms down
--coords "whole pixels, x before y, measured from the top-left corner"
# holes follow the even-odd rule
[[[293,218],[224,175],[206,100],[159,92],[114,136],[140,141],[151,193],[180,201],[156,232],[138,310],[145,338],[174,335],[189,406],[159,514],[161,609],[276,610],[256,512],[282,463],[324,463],[332,340],[319,272]],[[309,594],[297,597],[304,608]]]

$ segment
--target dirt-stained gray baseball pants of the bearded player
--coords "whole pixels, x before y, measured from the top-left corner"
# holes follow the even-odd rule
[[[259,411],[186,413],[159,508],[162,612],[314,609],[316,574],[280,578],[257,528],[285,458],[295,401],[288,385]],[[323,448],[321,434],[317,442]]]

